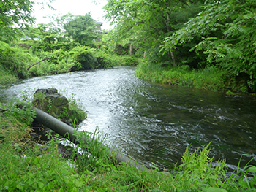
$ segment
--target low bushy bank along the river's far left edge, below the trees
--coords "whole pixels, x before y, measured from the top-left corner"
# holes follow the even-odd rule
[[[136,56],[108,53],[107,50],[82,45],[71,50],[39,50],[38,53],[19,45],[29,43],[9,45],[0,41],[0,85],[30,77],[136,65],[140,60]]]

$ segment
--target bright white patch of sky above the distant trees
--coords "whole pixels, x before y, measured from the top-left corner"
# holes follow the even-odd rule
[[[85,15],[88,12],[91,12],[91,18],[102,22],[102,29],[110,29],[110,22],[105,20],[103,17],[104,10],[102,7],[107,4],[107,0],[98,0],[97,4],[94,4],[93,0],[55,0],[51,3],[52,7],[56,9],[55,11],[45,7],[43,10],[39,5],[34,6],[34,14],[32,14],[35,18],[37,18],[36,23],[49,23],[50,20],[44,18],[48,15],[65,15],[68,12],[73,15]]]

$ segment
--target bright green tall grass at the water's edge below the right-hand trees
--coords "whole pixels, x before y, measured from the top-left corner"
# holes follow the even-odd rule
[[[166,68],[162,67],[162,64],[148,64],[144,61],[138,66],[135,75],[144,80],[170,85],[181,85],[214,91],[223,91],[225,89],[225,72],[222,72],[216,66],[191,70],[187,65]]]

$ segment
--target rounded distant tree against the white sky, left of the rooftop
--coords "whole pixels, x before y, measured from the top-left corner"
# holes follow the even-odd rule
[[[64,24],[64,29],[75,42],[80,43],[80,45],[91,46],[93,40],[98,37],[97,25],[99,23],[91,18],[91,13],[87,13],[84,16],[78,15],[74,20]]]

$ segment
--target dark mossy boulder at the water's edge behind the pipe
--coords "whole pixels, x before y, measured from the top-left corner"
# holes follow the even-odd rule
[[[34,93],[33,105],[61,120],[68,120],[71,114],[69,101],[65,96],[61,96],[56,88],[37,89]]]

